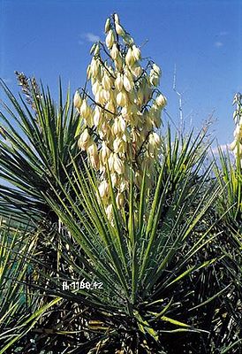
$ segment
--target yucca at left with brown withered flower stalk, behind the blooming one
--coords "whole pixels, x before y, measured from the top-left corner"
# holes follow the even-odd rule
[[[46,196],[51,193],[50,180],[55,184],[56,178],[53,175],[57,175],[63,183],[68,181],[62,164],[67,170],[72,168],[70,162],[79,154],[75,139],[79,117],[73,111],[69,89],[64,100],[61,83],[59,102],[56,104],[49,89],[40,89],[34,78],[30,80],[19,73],[18,78],[24,93],[19,98],[13,96],[1,81],[9,102],[1,103],[3,110],[0,112],[0,177],[5,181],[0,186],[0,214],[4,218],[11,215],[11,222],[16,225],[21,223],[31,226],[29,237],[35,240],[36,245],[35,253],[29,255],[32,266],[29,266],[28,277],[30,280],[34,277],[36,281],[33,258],[38,259],[35,267],[41,272],[49,273],[51,269],[56,272],[61,267],[59,253],[53,248],[54,243],[58,244],[58,238],[53,237],[53,230],[59,227],[58,218]],[[16,263],[18,260],[16,258]],[[64,271],[68,273],[68,269]],[[35,290],[38,292],[38,289]],[[36,311],[51,304],[47,296],[40,296],[38,300]],[[27,302],[24,304],[26,309],[28,305]],[[71,305],[58,302],[57,306],[54,314],[51,312],[51,315],[42,319],[51,331],[54,331],[59,318],[63,319],[66,312],[71,313]],[[29,339],[38,342],[41,347],[49,345],[51,340],[43,342],[42,320],[38,322],[38,328],[35,328],[37,332],[30,331],[28,336],[24,336],[22,350]]]

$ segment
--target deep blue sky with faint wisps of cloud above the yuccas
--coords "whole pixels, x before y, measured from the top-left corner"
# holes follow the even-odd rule
[[[0,0],[0,76],[17,92],[15,70],[35,75],[55,93],[61,75],[74,92],[113,12],[138,45],[147,41],[142,55],[161,66],[171,117],[178,121],[176,65],[186,127],[201,127],[213,113],[219,143],[231,142],[231,103],[242,91],[242,0]]]

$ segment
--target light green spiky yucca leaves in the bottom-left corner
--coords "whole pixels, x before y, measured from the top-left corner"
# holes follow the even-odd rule
[[[44,304],[42,296],[30,286],[36,237],[11,219],[0,222],[0,353],[31,349],[29,332],[42,315],[60,298]],[[33,337],[33,336],[32,336]]]

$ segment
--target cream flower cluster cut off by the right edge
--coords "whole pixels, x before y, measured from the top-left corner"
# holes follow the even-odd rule
[[[231,150],[233,150],[235,157],[240,159],[242,167],[242,95],[237,94],[234,96],[233,104],[236,104],[236,110],[233,113],[235,122],[234,141],[231,143]]]

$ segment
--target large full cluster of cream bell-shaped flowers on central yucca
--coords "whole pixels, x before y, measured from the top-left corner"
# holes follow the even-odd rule
[[[74,105],[83,121],[79,149],[87,151],[91,165],[100,173],[100,196],[111,215],[108,169],[119,208],[125,203],[130,173],[139,189],[146,166],[152,184],[161,146],[156,130],[166,99],[157,89],[161,69],[147,60],[143,67],[140,48],[117,14],[107,19],[105,33],[105,43],[93,45],[87,67],[93,96],[87,90],[81,95],[76,92]]]

